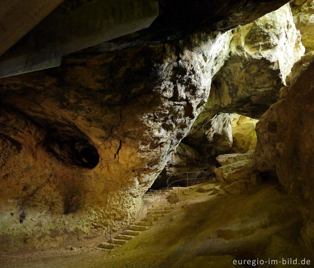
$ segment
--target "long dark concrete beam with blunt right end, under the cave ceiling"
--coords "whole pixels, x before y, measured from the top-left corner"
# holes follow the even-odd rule
[[[62,3],[0,57],[0,77],[148,27],[158,0]]]

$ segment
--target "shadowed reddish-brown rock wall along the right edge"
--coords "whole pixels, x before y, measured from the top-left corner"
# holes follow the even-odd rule
[[[257,123],[257,166],[272,170],[304,216],[301,235],[314,250],[314,63]],[[268,163],[267,163],[268,162]]]

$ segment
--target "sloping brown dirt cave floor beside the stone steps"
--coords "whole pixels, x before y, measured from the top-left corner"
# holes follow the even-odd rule
[[[3,254],[0,267],[314,267],[299,243],[300,212],[279,184],[264,183],[232,196],[219,191],[219,183],[202,183],[180,188],[180,198],[177,209],[110,254],[97,249],[105,241],[97,238],[68,249]],[[233,264],[240,259],[283,258],[306,258],[311,265]]]

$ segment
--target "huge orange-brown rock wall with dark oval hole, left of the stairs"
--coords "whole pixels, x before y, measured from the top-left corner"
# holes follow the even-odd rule
[[[99,235],[138,209],[203,109],[229,39],[69,55],[1,79],[2,246]]]

